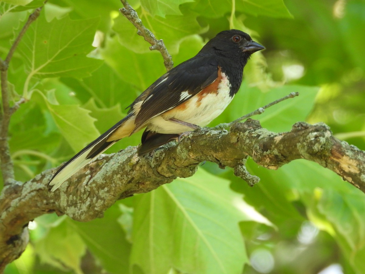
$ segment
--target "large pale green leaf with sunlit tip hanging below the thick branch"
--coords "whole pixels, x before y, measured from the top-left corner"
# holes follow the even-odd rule
[[[260,214],[229,181],[199,169],[136,198],[131,265],[145,273],[240,273],[248,262],[238,222]]]

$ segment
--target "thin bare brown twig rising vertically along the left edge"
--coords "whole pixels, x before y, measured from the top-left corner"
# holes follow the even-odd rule
[[[8,131],[11,115],[19,108],[19,104],[23,101],[20,100],[13,107],[10,107],[9,90],[8,90],[8,67],[11,57],[13,56],[16,47],[19,45],[20,40],[24,36],[28,27],[35,19],[38,18],[42,7],[35,9],[35,11],[29,16],[27,22],[24,24],[22,30],[20,30],[18,37],[16,37],[14,43],[9,49],[8,55],[5,60],[0,59],[0,71],[1,71],[1,96],[2,96],[2,109],[1,109],[1,126],[0,126],[0,161],[1,161],[1,173],[3,175],[4,184],[10,184],[14,182],[14,166],[10,157],[10,148],[8,143]]]

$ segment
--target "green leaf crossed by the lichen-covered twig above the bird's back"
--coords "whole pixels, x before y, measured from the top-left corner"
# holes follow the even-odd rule
[[[208,27],[202,28],[197,22],[197,14],[189,12],[184,16],[166,15],[166,18],[151,17],[149,14],[137,11],[140,18],[157,39],[164,40],[170,54],[176,54],[180,42],[189,35],[203,33]],[[150,44],[137,34],[136,28],[122,15],[114,21],[113,30],[118,34],[119,42],[136,53],[150,52]]]

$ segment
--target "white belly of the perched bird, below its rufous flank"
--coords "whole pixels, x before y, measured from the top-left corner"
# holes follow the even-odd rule
[[[218,93],[204,94],[204,98],[200,102],[198,102],[199,97],[195,95],[186,102],[187,104],[184,110],[177,111],[173,115],[166,112],[151,119],[148,129],[165,134],[193,130],[187,126],[167,121],[169,118],[175,118],[198,126],[206,126],[214,118],[218,117],[232,101],[233,97],[229,93],[230,84],[227,77],[224,77],[223,81],[219,84]]]

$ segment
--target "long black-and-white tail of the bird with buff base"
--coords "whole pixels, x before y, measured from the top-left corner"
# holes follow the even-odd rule
[[[103,153],[115,142],[123,137],[129,136],[133,129],[134,116],[130,113],[65,163],[50,180],[49,185],[53,186],[51,191],[55,191],[65,180],[74,175],[100,153]]]

